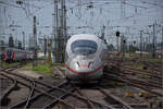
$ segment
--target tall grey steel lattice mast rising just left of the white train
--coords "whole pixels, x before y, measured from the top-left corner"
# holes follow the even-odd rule
[[[61,9],[59,9],[59,4]],[[54,0],[52,55],[54,62],[64,62],[66,35],[66,8],[65,0]]]

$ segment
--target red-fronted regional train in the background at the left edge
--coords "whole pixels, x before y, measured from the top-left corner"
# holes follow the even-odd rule
[[[33,51],[5,47],[0,51],[0,58],[5,62],[29,60],[33,59]]]

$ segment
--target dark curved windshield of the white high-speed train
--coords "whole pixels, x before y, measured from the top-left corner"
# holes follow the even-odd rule
[[[76,40],[71,48],[75,55],[88,56],[97,51],[98,45],[93,40]]]

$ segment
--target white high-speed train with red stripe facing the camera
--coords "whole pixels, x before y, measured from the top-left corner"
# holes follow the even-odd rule
[[[103,75],[106,45],[95,35],[72,36],[66,44],[65,75],[71,81],[97,81]]]

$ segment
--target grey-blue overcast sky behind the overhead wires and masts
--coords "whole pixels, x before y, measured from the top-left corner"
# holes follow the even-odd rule
[[[8,39],[9,34],[22,40],[33,35],[33,16],[37,17],[37,35],[51,36],[54,0],[0,0],[0,34]],[[60,1],[60,0],[59,0]],[[105,38],[115,45],[115,32],[120,31],[128,40],[137,39],[139,31],[152,32],[148,25],[158,23],[156,37],[160,41],[163,25],[163,0],[65,0],[68,34],[101,34],[105,26]],[[125,1],[125,3],[122,1]],[[91,8],[88,8],[92,5]],[[122,10],[123,9],[123,10]],[[15,27],[10,27],[13,25]],[[78,26],[80,28],[78,28]],[[143,37],[148,35],[145,34]]]

